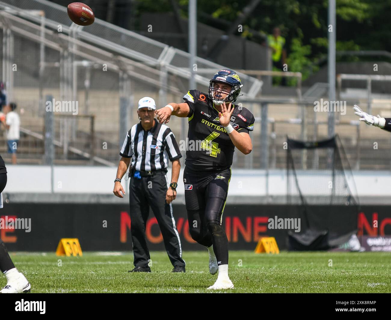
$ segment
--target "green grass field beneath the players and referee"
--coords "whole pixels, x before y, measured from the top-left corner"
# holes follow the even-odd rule
[[[209,273],[206,250],[183,254],[185,274],[170,272],[165,252],[151,252],[152,273],[128,273],[133,268],[129,253],[85,252],[83,257],[57,257],[54,253],[20,252],[11,253],[11,257],[34,293],[210,292],[206,288],[217,278]],[[58,266],[58,259],[62,266]],[[229,268],[235,289],[221,292],[391,292],[391,254],[384,252],[267,255],[231,251]],[[0,286],[5,283],[5,277],[0,277]]]

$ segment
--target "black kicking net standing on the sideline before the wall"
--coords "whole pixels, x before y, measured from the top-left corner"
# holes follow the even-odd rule
[[[291,248],[324,250],[346,242],[357,228],[359,202],[339,137],[287,141],[287,203],[291,217],[301,219],[301,232],[290,235]]]

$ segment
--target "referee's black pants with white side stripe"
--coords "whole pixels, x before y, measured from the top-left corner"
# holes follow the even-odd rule
[[[133,241],[135,267],[146,268],[151,259],[145,236],[145,226],[151,206],[158,221],[164,246],[174,267],[185,266],[182,259],[181,241],[172,215],[172,205],[166,203],[167,178],[163,171],[153,176],[137,179],[131,177],[129,184],[130,230]]]

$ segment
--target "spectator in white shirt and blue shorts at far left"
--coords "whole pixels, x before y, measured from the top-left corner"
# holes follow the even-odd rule
[[[10,102],[3,107],[3,112],[5,114],[1,119],[1,122],[4,124],[7,129],[7,146],[8,153],[12,154],[12,164],[16,164],[16,149],[20,138],[20,118],[18,113],[15,112],[16,103]]]

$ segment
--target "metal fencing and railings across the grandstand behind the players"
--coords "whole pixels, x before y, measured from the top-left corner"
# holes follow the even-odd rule
[[[114,166],[127,130],[138,121],[138,99],[148,95],[164,106],[181,102],[189,89],[187,52],[99,19],[90,27],[76,26],[65,7],[44,0],[0,1],[0,28],[0,74],[8,99],[18,103],[22,122],[18,159],[22,163],[47,163],[47,95],[55,101],[78,103],[77,115],[56,112],[53,119],[46,119],[52,121],[54,163]],[[206,91],[213,72],[223,66],[199,57],[195,62],[197,88]],[[253,112],[256,122],[251,133],[253,152],[244,156],[236,151],[234,167],[284,169],[287,135],[303,140],[327,137],[327,113],[314,112],[316,98],[302,95],[301,74],[285,76],[298,78],[297,97],[260,98],[262,81],[240,73],[245,86],[238,102]],[[379,109],[369,105],[373,111]],[[391,103],[381,109],[391,117]],[[335,131],[353,169],[390,169],[391,135],[362,128],[353,112],[336,119]],[[185,140],[185,121],[172,117],[169,122],[177,140]],[[0,140],[0,153],[9,160],[5,139]],[[369,152],[374,142],[378,149]]]

